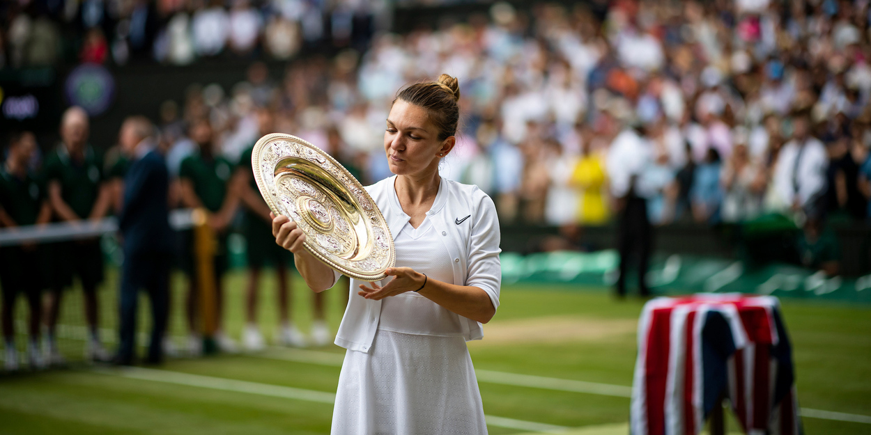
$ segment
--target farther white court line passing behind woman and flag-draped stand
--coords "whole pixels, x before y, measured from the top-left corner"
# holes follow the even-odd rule
[[[251,357],[279,359],[316,365],[331,365],[341,367],[344,358],[341,354],[325,351],[303,351],[300,349],[288,349],[286,347],[270,347],[265,353],[246,354]],[[631,397],[631,387],[624,385],[598,384],[573,379],[545,378],[542,376],[521,375],[505,371],[475,370],[478,381],[490,384],[526,386],[541,388],[544,390],[584,392],[601,396],[613,396],[618,398]],[[861,414],[848,414],[846,412],[823,411],[812,408],[800,408],[799,414],[806,418],[819,418],[823,420],[848,421],[853,423],[866,423],[871,425],[871,416]]]

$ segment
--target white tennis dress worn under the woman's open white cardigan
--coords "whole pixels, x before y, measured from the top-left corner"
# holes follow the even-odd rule
[[[395,238],[396,266],[454,284],[452,259],[440,237],[429,215],[416,229],[406,223]],[[465,343],[467,322],[413,291],[383,299],[368,351],[345,355],[332,433],[487,433]]]

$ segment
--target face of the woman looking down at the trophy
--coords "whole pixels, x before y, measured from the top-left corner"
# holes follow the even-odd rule
[[[454,142],[454,137],[438,140],[438,131],[429,122],[426,109],[402,100],[396,100],[390,109],[384,152],[390,171],[396,175],[437,171],[439,158],[448,155]]]

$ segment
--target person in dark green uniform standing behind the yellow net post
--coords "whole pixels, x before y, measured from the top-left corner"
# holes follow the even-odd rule
[[[233,166],[225,157],[219,155],[213,140],[212,125],[207,119],[194,121],[188,131],[191,140],[199,150],[181,162],[179,179],[181,185],[181,201],[186,207],[203,208],[209,211],[208,224],[216,235],[217,249],[214,258],[214,273],[216,284],[216,305],[218,331],[215,333],[215,343],[221,351],[235,351],[236,345],[227,337],[223,330],[224,291],[223,277],[227,268],[226,229],[233,219],[238,204],[238,195],[230,189],[230,178],[233,176]],[[188,250],[184,261],[184,269],[188,272],[189,291],[187,296],[187,319],[191,331],[188,340],[189,350],[196,354],[201,351],[197,343],[201,343],[197,333],[197,279],[193,270],[193,240],[186,244]]]

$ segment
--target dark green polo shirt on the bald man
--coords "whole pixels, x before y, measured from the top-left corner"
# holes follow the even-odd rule
[[[84,149],[84,159],[77,162],[61,144],[45,159],[45,180],[60,182],[61,197],[79,218],[91,216],[97,203],[100,184],[104,181],[103,161],[91,145]]]

